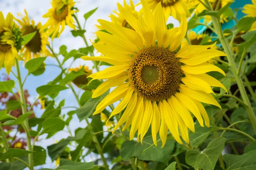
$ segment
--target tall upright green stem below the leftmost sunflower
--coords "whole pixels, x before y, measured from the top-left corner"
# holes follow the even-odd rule
[[[17,70],[17,80],[18,80],[18,84],[19,84],[19,88],[20,88],[20,101],[22,102],[23,105],[21,105],[21,110],[22,110],[22,114],[27,113],[27,108],[26,108],[26,100],[25,100],[25,96],[24,96],[24,91],[23,91],[23,85],[22,85],[22,81],[21,81],[21,76],[20,76],[20,66],[19,66],[19,62],[17,59],[15,59],[16,62],[16,70]],[[24,129],[26,131],[26,140],[27,140],[27,146],[29,151],[33,151],[32,149],[32,145],[31,145],[31,138],[30,138],[30,133],[29,133],[29,121],[28,119],[26,119],[24,121]],[[29,153],[29,169],[30,170],[34,170],[34,166],[33,166],[33,153]]]

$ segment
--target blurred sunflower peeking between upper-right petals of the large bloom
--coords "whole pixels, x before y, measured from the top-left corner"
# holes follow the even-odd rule
[[[189,34],[187,34],[188,38],[189,38],[189,41],[191,43],[191,45],[202,45],[201,42],[204,40],[204,38],[207,38],[206,34],[196,34],[194,31],[189,31]],[[207,40],[207,42],[211,42],[212,40]],[[189,45],[189,42],[186,38],[184,38],[184,40],[181,42],[181,47],[180,48],[183,48],[185,46]],[[216,45],[212,45],[210,47],[210,49],[213,49],[213,50],[216,50],[217,47]],[[220,58],[220,56],[218,57],[215,57],[217,59]],[[207,61],[208,63],[210,64],[215,64],[215,63],[218,63],[218,61],[216,61],[215,59],[209,59]]]

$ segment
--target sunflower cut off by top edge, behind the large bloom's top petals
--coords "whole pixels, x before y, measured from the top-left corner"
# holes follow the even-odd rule
[[[155,11],[157,4],[161,3],[163,7],[163,13],[168,20],[169,16],[172,15],[176,20],[181,21],[181,16],[183,14],[186,17],[190,17],[189,9],[193,8],[191,3],[188,3],[187,0],[145,0],[148,3],[149,8]]]

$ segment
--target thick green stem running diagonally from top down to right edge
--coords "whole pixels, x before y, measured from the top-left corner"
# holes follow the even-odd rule
[[[210,8],[212,9],[210,3],[209,3],[209,0],[204,0],[205,4]],[[220,20],[214,16],[211,16],[212,17],[212,23],[213,23],[213,26],[217,32],[217,35],[219,37],[219,40],[224,48],[224,51],[226,52],[227,54],[227,59],[228,59],[228,62],[230,64],[230,68],[233,72],[233,75],[236,79],[236,83],[238,85],[238,88],[239,88],[239,91],[240,91],[240,94],[241,94],[241,97],[244,101],[244,103],[247,105],[246,107],[246,110],[247,110],[247,113],[248,113],[248,116],[249,116],[249,119],[253,125],[253,129],[254,129],[254,133],[256,134],[256,116],[253,112],[253,108],[252,106],[250,105],[250,100],[246,94],[246,91],[245,91],[245,88],[244,88],[244,85],[243,85],[243,82],[242,82],[242,79],[241,77],[237,74],[237,68],[236,68],[236,63],[234,61],[234,58],[233,58],[233,51],[231,49],[231,46],[229,45],[227,39],[224,37],[224,34],[223,34],[223,31],[221,30],[221,23],[220,23]]]

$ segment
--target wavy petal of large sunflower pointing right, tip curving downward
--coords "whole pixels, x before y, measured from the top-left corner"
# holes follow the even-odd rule
[[[218,68],[216,65],[212,65],[209,63],[202,63],[199,65],[191,66],[191,65],[183,65],[181,66],[181,69],[189,74],[204,74],[208,73],[210,71],[218,71],[219,73],[223,74],[225,76],[225,72],[221,70],[221,68]]]

